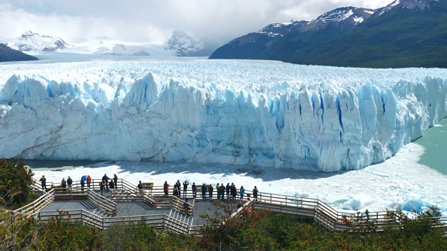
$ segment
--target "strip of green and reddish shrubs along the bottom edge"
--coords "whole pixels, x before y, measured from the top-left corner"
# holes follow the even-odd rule
[[[447,250],[439,208],[410,217],[389,211],[378,225],[369,212],[344,218],[346,231],[329,231],[312,219],[215,202],[203,218],[201,236],[173,234],[144,221],[119,222],[106,231],[73,221],[61,213],[47,222],[0,213],[0,250]],[[13,225],[6,223],[13,222]]]

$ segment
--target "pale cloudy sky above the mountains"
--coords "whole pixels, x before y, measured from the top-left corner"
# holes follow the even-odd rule
[[[274,22],[393,0],[0,0],[0,42],[25,31],[80,42],[97,37],[164,43],[173,30],[227,43]]]

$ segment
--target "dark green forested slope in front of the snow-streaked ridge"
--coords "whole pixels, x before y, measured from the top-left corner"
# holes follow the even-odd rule
[[[431,1],[425,8],[409,8],[404,3],[377,12],[335,43],[284,61],[369,68],[447,68],[447,1]]]

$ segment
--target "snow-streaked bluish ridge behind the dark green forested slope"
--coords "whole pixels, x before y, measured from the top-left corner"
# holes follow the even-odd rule
[[[372,13],[374,10],[367,8],[346,7],[324,13],[310,22],[292,21],[269,24],[263,29],[235,38],[230,43],[219,47],[211,54],[210,59],[265,59],[265,57],[271,59],[270,57],[279,56],[279,60],[281,60],[282,53],[272,53],[268,56],[265,53],[268,53],[272,47],[284,46],[285,49],[289,47],[289,45],[277,45],[287,34],[292,36],[285,39],[302,36],[302,38],[298,38],[298,41],[307,41],[306,43],[309,43],[310,47],[306,50],[313,50],[312,47],[321,44],[318,40],[324,38],[325,41],[328,41],[342,36],[367,20]],[[290,52],[284,53],[290,54]]]

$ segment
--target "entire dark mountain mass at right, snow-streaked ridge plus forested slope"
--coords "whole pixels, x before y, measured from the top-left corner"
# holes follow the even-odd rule
[[[310,22],[270,24],[231,40],[210,59],[373,67],[447,67],[447,1],[396,0],[376,10],[337,8]],[[275,29],[272,31],[272,29]],[[288,34],[288,36],[284,36]]]

